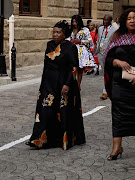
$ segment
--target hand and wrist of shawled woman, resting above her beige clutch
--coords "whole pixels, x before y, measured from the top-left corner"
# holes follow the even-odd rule
[[[121,61],[119,59],[114,59],[113,66],[114,67],[121,67],[125,71],[128,71],[131,69],[130,64],[128,64],[126,61]]]

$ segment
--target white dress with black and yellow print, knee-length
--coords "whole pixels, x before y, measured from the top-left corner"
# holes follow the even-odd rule
[[[95,60],[90,51],[90,48],[93,48],[94,44],[89,29],[83,27],[76,35],[74,35],[72,32],[70,40],[74,39],[81,40],[81,45],[76,44],[78,49],[79,67],[95,67]]]

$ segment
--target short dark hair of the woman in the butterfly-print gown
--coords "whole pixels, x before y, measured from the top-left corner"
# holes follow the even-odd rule
[[[65,34],[65,38],[68,38],[71,34],[70,28],[69,28],[69,24],[66,20],[62,20],[57,22],[54,27],[58,27],[61,28],[63,33]]]

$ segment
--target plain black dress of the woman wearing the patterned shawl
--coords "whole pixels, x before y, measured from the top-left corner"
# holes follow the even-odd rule
[[[113,137],[135,136],[135,86],[122,79],[122,69],[113,67],[114,59],[135,66],[135,45],[114,47],[109,51],[105,64],[109,76],[112,76]]]

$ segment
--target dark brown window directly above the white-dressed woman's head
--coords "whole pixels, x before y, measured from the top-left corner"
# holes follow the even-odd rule
[[[83,17],[91,17],[91,0],[79,0],[79,14]]]

